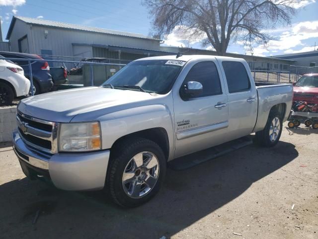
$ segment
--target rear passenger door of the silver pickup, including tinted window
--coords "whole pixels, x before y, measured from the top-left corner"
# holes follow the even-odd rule
[[[222,58],[221,58],[222,59]],[[236,139],[252,132],[257,118],[258,97],[247,63],[241,60],[221,60],[223,76],[227,83],[229,105],[228,132]]]

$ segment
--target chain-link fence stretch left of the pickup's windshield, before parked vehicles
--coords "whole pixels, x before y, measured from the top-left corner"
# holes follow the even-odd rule
[[[1,58],[22,67],[30,80],[30,95],[85,86],[99,86],[126,64],[103,59],[103,62]],[[69,67],[68,67],[69,66]]]

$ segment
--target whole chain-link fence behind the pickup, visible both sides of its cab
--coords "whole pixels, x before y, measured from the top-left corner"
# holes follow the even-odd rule
[[[31,82],[30,95],[98,86],[130,62],[120,59],[71,56],[42,55],[41,57],[44,59],[3,58],[23,68],[25,77]],[[292,65],[287,67],[283,64],[276,66],[274,63],[264,62],[248,62],[248,65],[256,82],[292,83],[298,81],[303,74],[318,72],[318,67]],[[287,70],[281,70],[285,68]],[[47,74],[44,74],[45,72]],[[48,87],[48,81],[52,81],[53,86]]]

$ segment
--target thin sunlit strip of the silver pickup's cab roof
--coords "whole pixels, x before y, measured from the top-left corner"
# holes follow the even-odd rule
[[[176,57],[175,55],[167,55],[167,56],[152,56],[152,57],[145,57],[138,59],[136,61],[140,60],[180,60],[180,61],[189,61],[192,59],[220,59],[220,60],[235,60],[235,61],[244,61],[242,58],[236,58],[236,57],[228,57],[228,56],[211,56],[211,55],[181,55],[179,57]]]

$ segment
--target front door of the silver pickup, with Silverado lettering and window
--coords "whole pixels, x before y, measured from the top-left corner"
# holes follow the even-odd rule
[[[213,60],[192,64],[181,86],[200,82],[203,93],[182,99],[174,92],[175,157],[215,146],[227,138],[228,97],[220,68]]]

